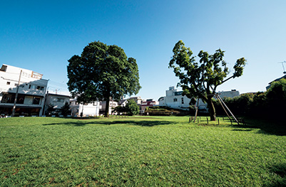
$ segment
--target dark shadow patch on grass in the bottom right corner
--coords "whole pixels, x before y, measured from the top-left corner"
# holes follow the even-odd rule
[[[286,186],[286,164],[275,164],[270,167],[270,172],[277,175],[277,180],[267,183],[265,186],[274,187],[274,186]]]

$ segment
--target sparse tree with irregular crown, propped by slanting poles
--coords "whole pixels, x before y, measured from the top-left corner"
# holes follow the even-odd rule
[[[169,63],[169,68],[173,68],[175,75],[180,79],[178,85],[183,88],[183,95],[200,98],[206,102],[211,120],[216,120],[212,101],[216,88],[231,78],[240,77],[246,62],[245,58],[238,59],[233,67],[233,75],[226,78],[229,70],[223,60],[224,53],[225,51],[218,49],[213,55],[209,55],[201,50],[198,54],[200,60],[197,62],[190,48],[186,48],[183,41],[178,41]]]

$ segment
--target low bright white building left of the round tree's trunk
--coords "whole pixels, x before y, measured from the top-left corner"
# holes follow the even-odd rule
[[[73,117],[81,117],[81,113],[83,117],[88,116],[98,116],[99,109],[101,109],[100,102],[92,102],[81,104],[78,103],[76,99],[70,100],[71,107],[71,116]]]

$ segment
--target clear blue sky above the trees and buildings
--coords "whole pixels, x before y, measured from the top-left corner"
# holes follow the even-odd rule
[[[247,65],[240,78],[218,87],[265,91],[283,75],[286,1],[1,1],[0,63],[44,74],[49,90],[64,93],[66,66],[92,41],[123,48],[136,58],[138,96],[158,100],[178,78],[168,63],[182,40],[195,55],[225,50],[230,69]],[[286,64],[285,64],[286,68]]]

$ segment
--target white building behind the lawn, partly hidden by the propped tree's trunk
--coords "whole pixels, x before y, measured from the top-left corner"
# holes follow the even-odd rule
[[[183,96],[182,94],[183,91],[178,91],[173,86],[169,87],[169,90],[166,90],[166,96],[159,98],[159,106],[188,110],[190,106],[190,98]],[[205,110],[206,107],[207,105],[203,103],[202,100],[199,100],[198,109]]]

